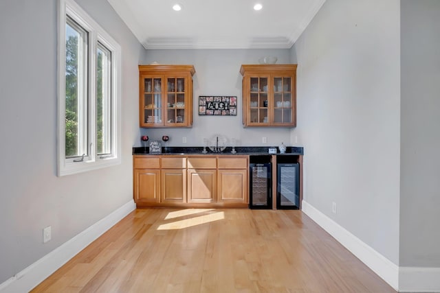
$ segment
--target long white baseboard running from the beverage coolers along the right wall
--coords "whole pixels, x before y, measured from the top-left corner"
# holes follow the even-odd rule
[[[331,220],[327,215],[318,211],[308,202],[302,202],[303,212],[321,226],[327,233],[333,236],[340,244],[345,246],[353,255],[358,257],[386,283],[395,290],[399,288],[399,266],[377,253],[376,250],[362,242],[358,237],[351,234],[345,228]]]

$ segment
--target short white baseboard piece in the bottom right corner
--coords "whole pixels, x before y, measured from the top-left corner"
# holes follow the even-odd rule
[[[440,292],[440,268],[399,268],[399,292]]]

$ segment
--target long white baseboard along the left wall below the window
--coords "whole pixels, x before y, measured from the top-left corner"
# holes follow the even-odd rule
[[[136,208],[133,200],[0,284],[1,293],[29,292]]]

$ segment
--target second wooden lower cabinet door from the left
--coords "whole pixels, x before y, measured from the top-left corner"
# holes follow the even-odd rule
[[[186,202],[186,169],[162,169],[161,202]]]

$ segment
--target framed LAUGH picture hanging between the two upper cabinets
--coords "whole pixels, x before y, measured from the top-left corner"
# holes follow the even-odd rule
[[[236,96],[199,95],[199,115],[236,116]]]

